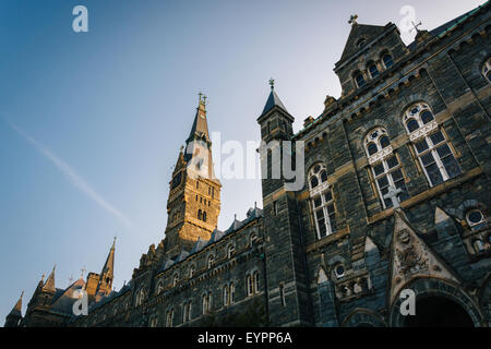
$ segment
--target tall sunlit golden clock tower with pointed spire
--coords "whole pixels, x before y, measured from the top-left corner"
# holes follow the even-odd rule
[[[165,254],[173,258],[188,252],[197,239],[209,240],[220,213],[221,184],[215,178],[212,141],[206,119],[206,96],[200,101],[191,132],[181,147],[169,182]]]

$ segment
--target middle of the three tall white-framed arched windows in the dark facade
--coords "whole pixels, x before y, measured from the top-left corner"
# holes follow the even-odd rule
[[[393,152],[387,131],[382,128],[370,131],[364,137],[364,147],[382,206],[384,208],[393,206],[391,198],[384,198],[390,186],[403,191],[398,196],[399,202],[409,198],[403,166]]]

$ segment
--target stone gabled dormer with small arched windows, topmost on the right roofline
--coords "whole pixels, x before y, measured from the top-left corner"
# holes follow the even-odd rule
[[[385,26],[359,24],[351,16],[351,32],[335,64],[339,77],[342,96],[363,88],[371,81],[391,70],[406,53],[406,45],[394,23]]]

